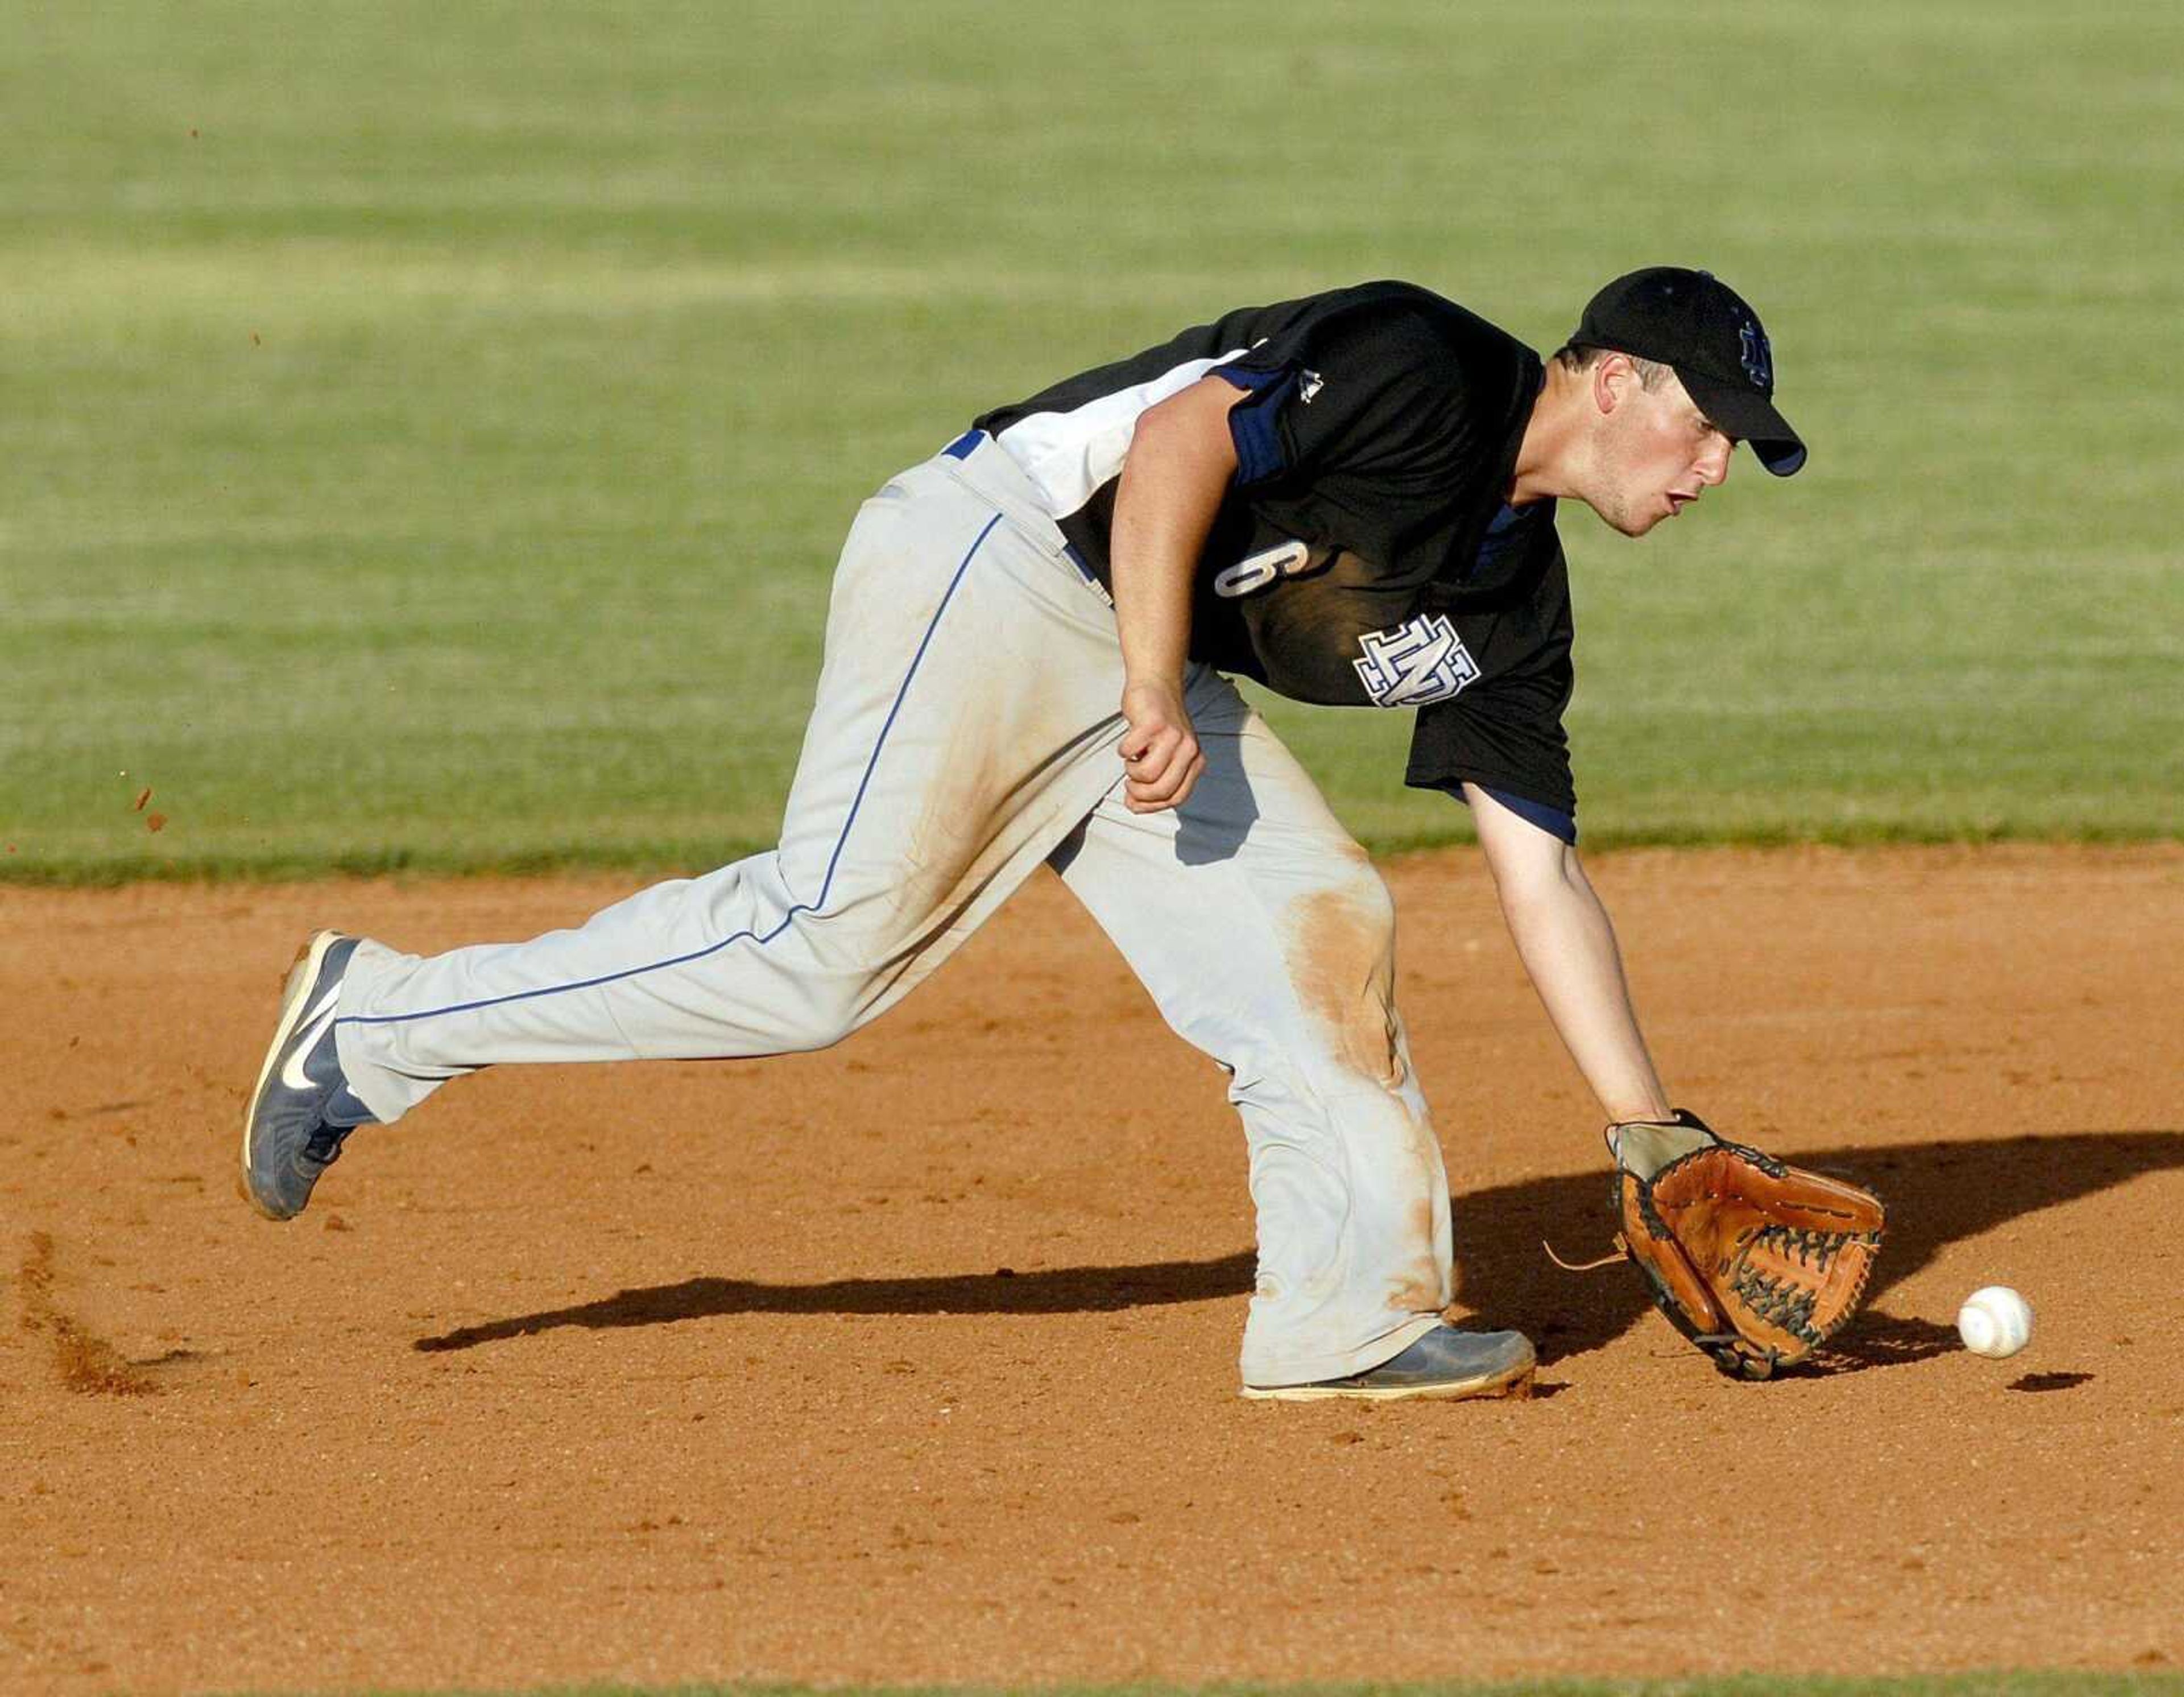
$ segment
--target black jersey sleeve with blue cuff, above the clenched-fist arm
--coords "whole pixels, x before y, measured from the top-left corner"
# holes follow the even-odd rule
[[[1470,448],[1446,328],[1393,295],[1308,315],[1212,376],[1241,389],[1230,408],[1236,487],[1369,470],[1426,483]]]

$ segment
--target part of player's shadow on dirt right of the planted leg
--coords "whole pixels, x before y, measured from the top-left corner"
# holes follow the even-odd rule
[[[1928,1361],[1957,1341],[1955,1313],[1889,1313],[1887,1295],[1959,1238],[1990,1232],[2020,1214],[2184,1166],[2184,1131],[2053,1131],[2011,1138],[1887,1144],[1872,1149],[1773,1149],[1797,1166],[1852,1177],[1889,1210],[1865,1308],[1819,1352],[1804,1374],[1843,1374]],[[1529,1179],[1457,1199],[1459,1289],[1481,1319],[1514,1326],[1540,1343],[1542,1361],[1599,1350],[1645,1315],[1651,1302],[1623,1267],[1566,1273],[1540,1249],[1546,1238],[1566,1260],[1605,1254],[1614,1236],[1607,1168],[1579,1177]],[[1669,1337],[1666,1328],[1662,1337]]]

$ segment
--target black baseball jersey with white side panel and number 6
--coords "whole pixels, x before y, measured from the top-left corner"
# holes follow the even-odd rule
[[[1540,358],[1376,282],[1230,312],[976,424],[1105,585],[1136,422],[1206,376],[1243,393],[1192,660],[1299,701],[1415,708],[1404,782],[1468,780],[1568,836],[1568,574],[1553,502],[1503,505]]]

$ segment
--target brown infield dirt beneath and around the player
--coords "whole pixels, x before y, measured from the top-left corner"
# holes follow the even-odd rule
[[[1378,1411],[1236,1398],[1221,1079],[1051,878],[828,1055],[489,1072],[290,1225],[229,1175],[297,939],[620,887],[0,893],[0,1688],[2184,1662],[2184,850],[1594,876],[1677,1096],[1894,1208],[1817,1372],[1540,1254],[1594,1112],[1470,856],[1391,869],[1400,998],[1546,1365]]]

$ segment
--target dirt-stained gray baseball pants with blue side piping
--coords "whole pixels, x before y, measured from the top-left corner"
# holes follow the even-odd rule
[[[963,452],[961,459],[954,452]],[[395,1120],[507,1061],[823,1048],[893,1007],[1040,863],[1230,1072],[1258,1210],[1247,1385],[1363,1372],[1450,1300],[1448,1177],[1365,852],[1203,666],[1190,799],[1123,806],[1114,614],[994,443],[856,515],[780,847],[574,930],[430,959],[363,941],[336,1044]]]

